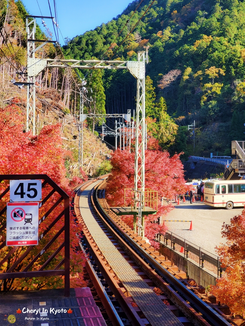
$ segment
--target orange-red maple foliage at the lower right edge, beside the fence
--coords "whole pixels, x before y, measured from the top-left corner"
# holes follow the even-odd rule
[[[245,317],[245,210],[230,224],[223,223],[221,234],[226,244],[216,249],[225,272],[216,286],[211,286],[211,293],[232,313]]]

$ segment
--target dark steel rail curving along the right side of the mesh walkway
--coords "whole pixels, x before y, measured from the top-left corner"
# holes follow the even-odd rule
[[[194,305],[196,310],[203,314],[203,318],[205,318],[209,323],[215,325],[215,326],[230,326],[231,324],[224,319],[221,315],[219,315],[213,308],[211,308],[208,304],[203,302],[198,296],[196,296],[190,289],[188,289],[183,283],[181,283],[180,280],[175,278],[170,272],[168,272],[166,269],[164,269],[160,263],[158,263],[150,254],[148,254],[139,244],[137,244],[127,233],[125,233],[114,221],[110,218],[110,216],[106,213],[106,211],[101,206],[99,200],[98,200],[98,188],[99,185],[96,187],[96,203],[99,206],[102,214],[98,212],[100,215],[100,218],[103,221],[103,223],[108,224],[108,226],[113,228],[114,236],[117,240],[120,241],[120,237],[123,238],[123,240],[126,241],[127,244],[129,244],[132,248],[134,248],[134,251],[136,253],[139,253],[141,257],[143,257],[144,260],[146,260],[147,263],[150,264],[151,267],[155,269],[155,271],[164,278],[164,280],[169,283],[172,287],[174,287],[175,291],[177,290],[178,293],[180,293],[181,296],[183,296],[185,299],[188,300],[191,304]],[[95,208],[96,209],[96,208]],[[106,217],[106,220],[105,220]],[[108,222],[108,223],[107,223]],[[116,230],[116,232],[115,232]],[[119,237],[120,235],[120,237]],[[132,249],[131,249],[132,251]],[[135,252],[132,251],[131,254],[135,255]],[[178,298],[179,300],[179,298]]]

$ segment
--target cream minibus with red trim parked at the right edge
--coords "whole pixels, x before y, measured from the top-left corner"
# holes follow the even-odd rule
[[[204,204],[232,209],[245,205],[245,180],[206,181]]]

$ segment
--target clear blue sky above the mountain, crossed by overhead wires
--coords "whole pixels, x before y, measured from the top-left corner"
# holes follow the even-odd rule
[[[50,16],[48,0],[22,0],[27,11],[31,15]],[[132,0],[131,0],[132,1]],[[60,32],[63,37],[73,38],[76,35],[94,29],[96,26],[106,23],[113,17],[121,14],[130,0],[56,0],[57,15]],[[54,16],[54,0],[49,0],[52,15]],[[41,9],[38,7],[38,4]],[[37,21],[42,27],[41,20]],[[54,34],[51,20],[46,19],[50,31]],[[43,27],[42,27],[43,29]],[[44,30],[44,29],[43,29]],[[55,39],[55,36],[53,37]],[[59,42],[64,41],[59,33]]]

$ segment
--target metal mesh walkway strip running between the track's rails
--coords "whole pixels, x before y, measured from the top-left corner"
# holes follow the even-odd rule
[[[79,194],[80,212],[91,236],[117,277],[123,283],[125,289],[133,297],[152,326],[183,326],[155,292],[129,265],[127,260],[123,258],[93,217],[89,207],[88,196],[92,188],[98,183],[100,181],[92,183]]]

